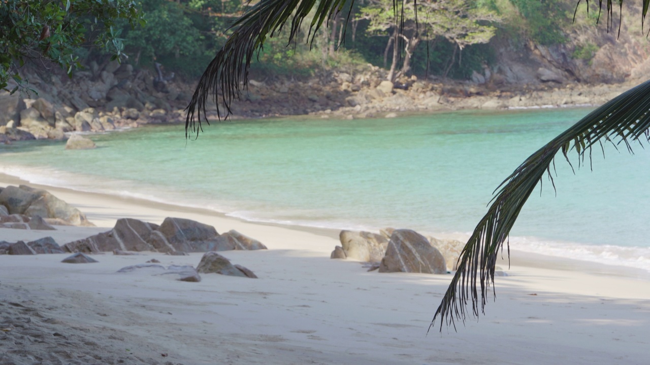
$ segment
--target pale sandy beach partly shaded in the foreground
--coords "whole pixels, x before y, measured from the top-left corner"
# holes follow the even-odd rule
[[[0,176],[0,186],[18,183]],[[367,272],[358,262],[331,260],[338,244],[331,231],[48,189],[100,227],[0,229],[0,240],[51,235],[65,244],[107,231],[118,218],[161,223],[176,216],[219,232],[237,229],[269,249],[223,253],[259,279],[203,274],[200,283],[116,271],[151,258],[196,267],[201,254],[94,255],[99,264],[60,263],[66,255],[1,255],[0,327],[10,325],[0,331],[2,365],[38,359],[184,365],[650,361],[650,281],[640,271],[513,251],[510,276],[497,278],[497,301],[488,303],[485,316],[469,318],[458,333],[444,327],[440,334],[435,327],[427,336],[451,275]],[[26,318],[31,322],[20,327]]]

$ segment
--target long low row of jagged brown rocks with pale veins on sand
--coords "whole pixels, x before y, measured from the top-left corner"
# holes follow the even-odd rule
[[[165,218],[161,225],[122,218],[112,230],[64,245],[68,252],[154,251],[170,255],[187,252],[266,249],[257,240],[230,231],[219,235],[211,225],[183,218]]]

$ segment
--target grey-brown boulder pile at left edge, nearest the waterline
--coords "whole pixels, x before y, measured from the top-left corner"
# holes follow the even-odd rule
[[[25,185],[4,188],[0,192],[0,205],[4,205],[9,214],[60,219],[73,225],[93,225],[77,208],[71,207],[46,190],[34,189]],[[24,222],[27,223],[27,221]]]

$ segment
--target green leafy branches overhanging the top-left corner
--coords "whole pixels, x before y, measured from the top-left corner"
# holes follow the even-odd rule
[[[112,58],[122,57],[119,19],[144,23],[131,0],[5,0],[0,2],[0,88],[10,80],[16,92],[23,81],[18,68],[28,60],[54,62],[68,74],[81,66],[79,47],[96,45]]]

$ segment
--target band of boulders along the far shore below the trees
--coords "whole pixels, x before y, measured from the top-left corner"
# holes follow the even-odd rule
[[[321,118],[391,118],[399,112],[596,106],[633,86],[575,84],[539,69],[538,80],[508,84],[499,75],[469,82],[385,80],[385,70],[364,66],[349,72],[323,71],[304,79],[257,81],[231,106],[232,119],[312,115]],[[26,71],[38,95],[0,93],[0,143],[62,140],[75,132],[105,132],[153,123],[182,123],[194,82],[161,79],[129,64],[92,62],[72,79]],[[221,113],[221,115],[220,115]],[[208,106],[211,119],[224,109]]]

